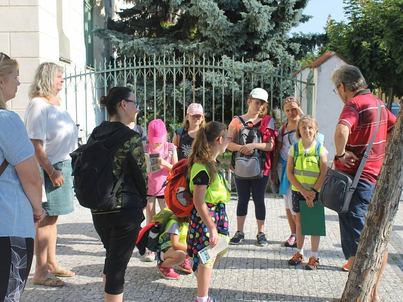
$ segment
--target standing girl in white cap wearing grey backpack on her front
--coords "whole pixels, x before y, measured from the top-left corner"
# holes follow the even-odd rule
[[[270,163],[274,138],[277,135],[274,119],[267,114],[267,98],[268,94],[264,89],[255,88],[250,92],[247,100],[248,111],[241,116],[235,116],[228,126],[228,135],[231,136],[232,142],[228,144],[228,149],[235,152],[235,186],[238,193],[237,215],[237,232],[231,238],[230,244],[237,245],[245,240],[243,233],[246,214],[248,212],[248,202],[250,192],[255,205],[255,217],[257,223],[256,245],[266,246],[266,236],[264,234],[264,220],[266,217],[266,207],[264,204],[264,193],[270,174]],[[242,135],[238,135],[243,129],[249,129],[250,133],[254,133],[258,142],[243,144]],[[255,131],[253,131],[253,129]],[[246,163],[248,157],[255,157],[261,169],[257,176],[248,178],[247,175],[237,175],[237,165]],[[239,159],[237,161],[237,158]],[[241,159],[242,158],[242,159]],[[251,162],[250,162],[251,163]],[[246,164],[248,165],[248,164]],[[250,165],[249,165],[250,167]],[[240,171],[245,172],[242,167]]]

